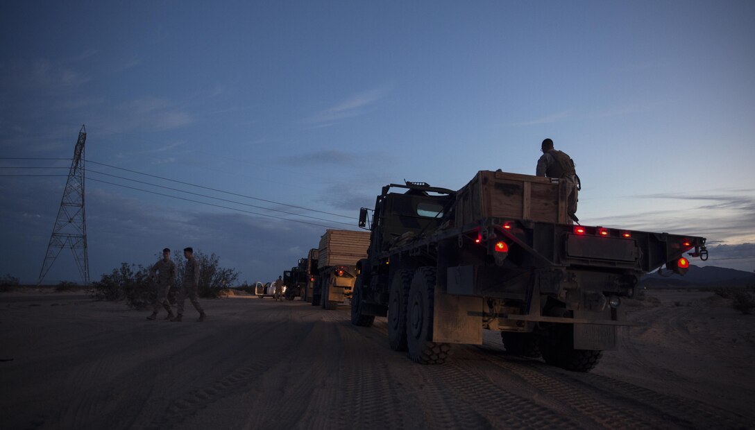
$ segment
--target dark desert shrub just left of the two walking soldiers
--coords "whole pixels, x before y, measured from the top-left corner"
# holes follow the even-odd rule
[[[102,275],[94,282],[94,298],[102,300],[125,299],[135,309],[145,309],[154,299],[154,288],[149,280],[149,270],[141,265],[121,263],[109,275]]]

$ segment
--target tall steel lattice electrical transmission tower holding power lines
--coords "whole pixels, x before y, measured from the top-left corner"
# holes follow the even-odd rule
[[[65,247],[71,249],[84,284],[89,284],[87,224],[84,216],[84,143],[86,140],[87,131],[82,125],[79,140],[76,141],[76,147],[73,149],[71,170],[68,172],[66,189],[63,190],[63,198],[60,200],[60,209],[57,210],[57,219],[50,236],[45,263],[42,263],[42,270],[39,271],[38,284],[42,284],[52,263]]]

